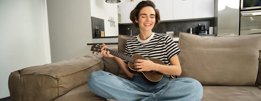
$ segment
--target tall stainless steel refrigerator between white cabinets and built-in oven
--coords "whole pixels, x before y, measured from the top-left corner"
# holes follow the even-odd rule
[[[239,35],[240,0],[215,0],[214,34]]]

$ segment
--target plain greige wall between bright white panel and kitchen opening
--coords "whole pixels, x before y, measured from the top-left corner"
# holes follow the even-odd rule
[[[91,54],[90,0],[47,0],[47,10],[52,62]]]

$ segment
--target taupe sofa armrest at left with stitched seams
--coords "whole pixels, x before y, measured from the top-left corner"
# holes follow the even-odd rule
[[[99,55],[24,68],[9,76],[10,97],[12,101],[53,101],[87,83],[90,73],[103,68]]]

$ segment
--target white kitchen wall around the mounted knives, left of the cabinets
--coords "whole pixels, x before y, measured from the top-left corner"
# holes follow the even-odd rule
[[[118,36],[118,8],[117,3],[106,3],[105,0],[91,0],[91,16],[104,20],[105,36]],[[113,16],[115,27],[110,26],[109,17]]]

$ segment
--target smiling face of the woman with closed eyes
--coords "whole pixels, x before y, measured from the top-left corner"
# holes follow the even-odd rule
[[[151,32],[151,29],[154,27],[156,21],[155,15],[155,10],[150,6],[143,7],[140,10],[138,15],[139,18],[138,20],[135,20],[135,22],[139,25],[140,32]]]

